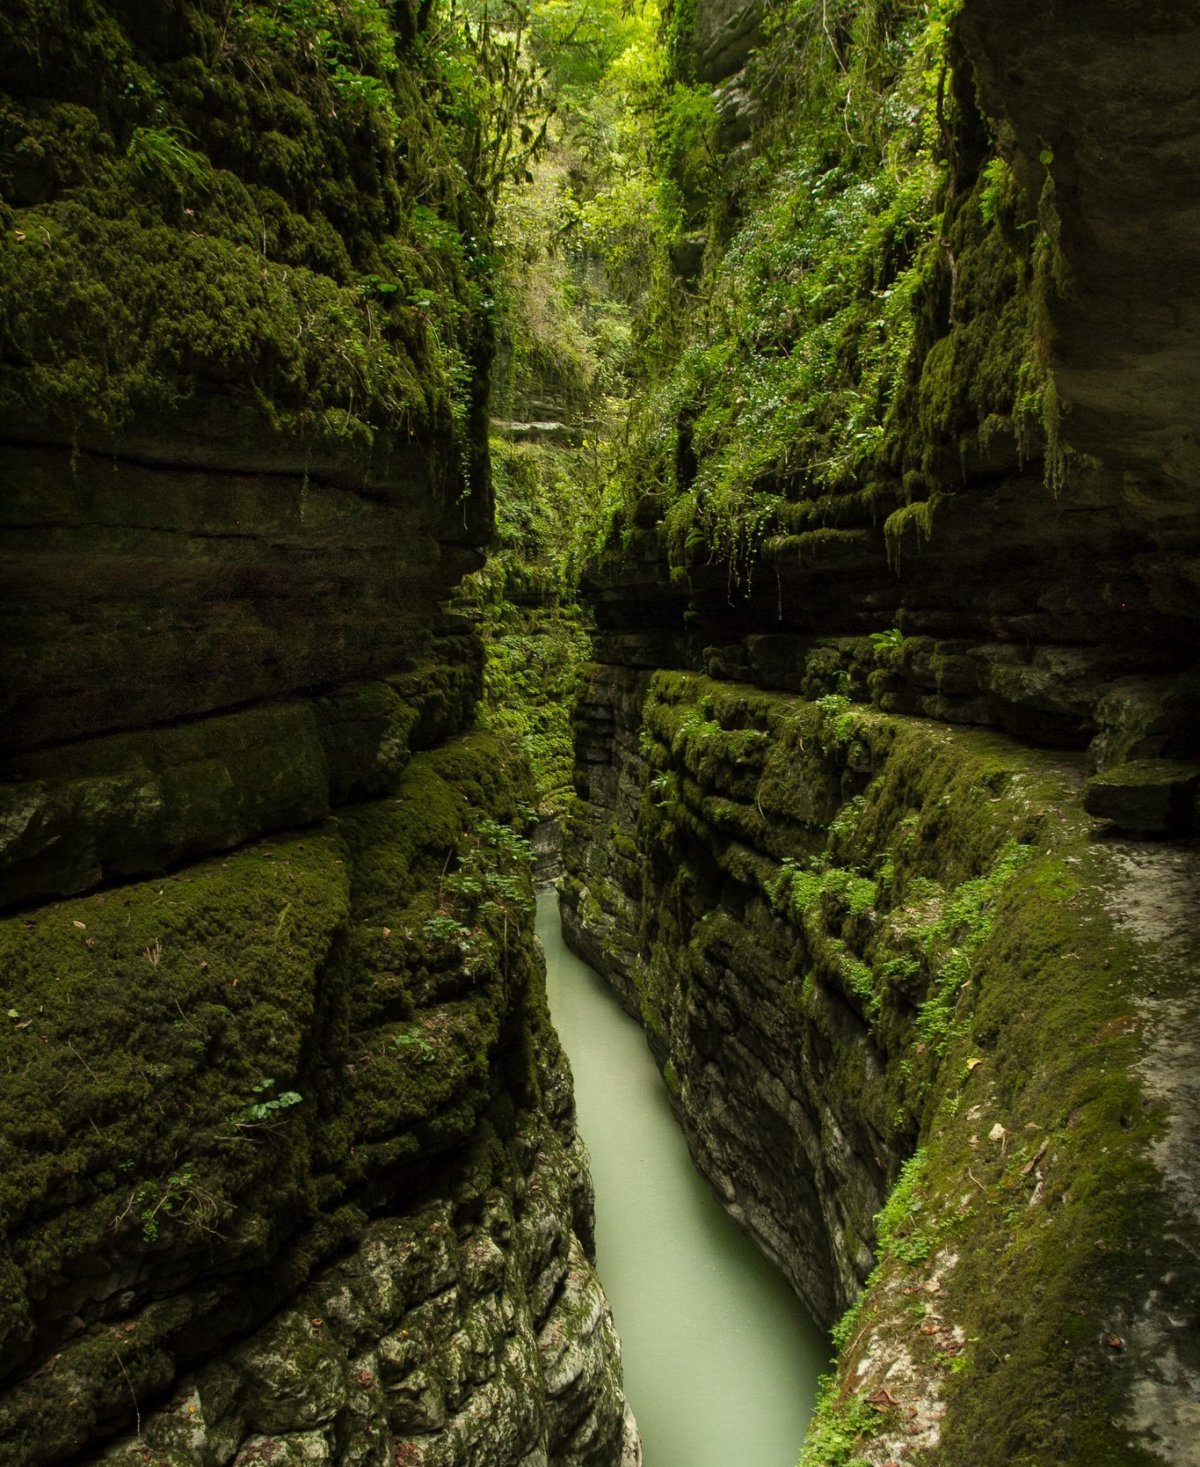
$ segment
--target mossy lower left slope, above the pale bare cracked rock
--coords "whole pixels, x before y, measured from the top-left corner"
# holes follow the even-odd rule
[[[15,1463],[117,1427],[442,1188],[493,1108],[537,1109],[528,801],[477,735],[314,829],[0,923]]]

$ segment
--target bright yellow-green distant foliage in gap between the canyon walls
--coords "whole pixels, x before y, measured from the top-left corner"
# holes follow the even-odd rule
[[[494,189],[496,541],[465,597],[487,645],[483,719],[519,742],[547,814],[571,788],[571,704],[587,656],[575,591],[629,390],[621,267],[593,224],[597,201],[629,175],[622,150],[641,151],[626,103],[651,26],[653,9],[538,0],[509,23],[524,59],[506,53],[502,65],[535,78],[522,106],[537,116],[521,126],[537,156]]]

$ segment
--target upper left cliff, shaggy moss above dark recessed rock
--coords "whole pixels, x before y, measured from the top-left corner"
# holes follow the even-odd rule
[[[6,754],[437,663],[491,530],[489,205],[440,101],[453,41],[374,0],[142,9],[0,18]],[[450,673],[440,709],[400,692],[412,742],[461,728],[477,681]],[[323,757],[367,754],[327,722],[324,756],[308,731],[254,776],[293,788],[290,823],[323,813]],[[386,785],[377,753],[332,770],[334,804]],[[229,773],[236,800],[217,767],[163,797],[200,845],[138,830],[160,798],[141,776],[13,814],[85,846],[72,826],[107,802],[179,860],[258,833]],[[57,889],[97,861],[147,868],[84,852]]]

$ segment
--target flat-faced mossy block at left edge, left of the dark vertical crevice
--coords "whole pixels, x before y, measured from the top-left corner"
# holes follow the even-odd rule
[[[3,1034],[0,1207],[28,1307],[81,1253],[144,1244],[142,1213],[172,1190],[157,1231],[185,1248],[249,1194],[302,1213],[304,1108],[263,1130],[241,1118],[267,1077],[307,1089],[317,976],[348,911],[343,857],[336,836],[293,838],[3,924],[22,1017]],[[25,1309],[6,1311],[7,1339]]]

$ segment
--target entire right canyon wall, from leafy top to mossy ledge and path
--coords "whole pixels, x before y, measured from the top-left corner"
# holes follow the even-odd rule
[[[676,23],[731,153],[588,571],[565,929],[841,1317],[805,1467],[1196,1463],[1196,21]]]

